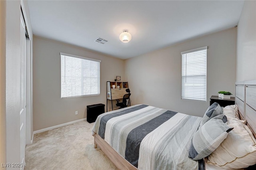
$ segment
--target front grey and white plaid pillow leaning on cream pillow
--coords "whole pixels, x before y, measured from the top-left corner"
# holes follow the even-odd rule
[[[192,138],[188,157],[200,160],[210,155],[233,129],[226,125],[226,122],[225,115],[218,115],[199,128]]]

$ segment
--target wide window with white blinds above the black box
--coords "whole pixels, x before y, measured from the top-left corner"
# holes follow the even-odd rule
[[[61,98],[100,94],[100,60],[60,53]]]

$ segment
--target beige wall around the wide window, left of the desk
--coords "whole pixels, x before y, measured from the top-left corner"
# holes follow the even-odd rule
[[[100,95],[60,98],[60,52],[101,60]],[[86,118],[87,105],[106,105],[106,81],[124,76],[124,60],[72,45],[34,36],[33,53],[34,130]]]

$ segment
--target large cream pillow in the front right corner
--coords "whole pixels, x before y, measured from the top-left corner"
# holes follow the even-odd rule
[[[238,119],[228,120],[234,129],[220,146],[208,156],[207,163],[221,168],[246,168],[256,164],[256,139],[250,128]]]

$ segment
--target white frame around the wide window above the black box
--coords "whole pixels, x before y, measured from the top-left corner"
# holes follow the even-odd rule
[[[65,99],[65,98],[72,98],[72,97],[85,97],[85,96],[96,96],[96,95],[100,95],[100,74],[99,74],[99,77],[98,77],[98,79],[99,79],[99,93],[98,93],[98,94],[62,97],[62,66],[61,66],[61,63],[62,63],[62,55],[68,56],[68,57],[75,57],[75,58],[80,58],[80,59],[91,60],[91,61],[97,61],[97,62],[99,62],[99,64],[101,63],[101,60],[98,60],[98,59],[92,59],[92,58],[88,58],[88,57],[82,57],[82,56],[79,56],[79,55],[72,55],[72,54],[60,52],[60,98],[61,98],[61,99]],[[99,67],[100,67],[100,65],[99,65]]]

